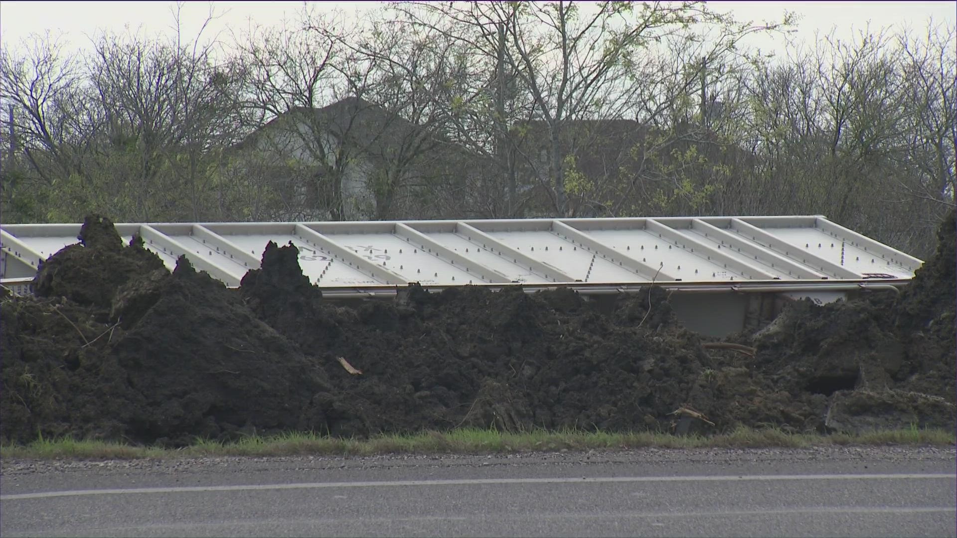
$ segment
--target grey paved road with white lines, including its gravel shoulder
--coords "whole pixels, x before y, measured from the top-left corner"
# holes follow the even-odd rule
[[[952,449],[4,461],[3,536],[957,536]]]

